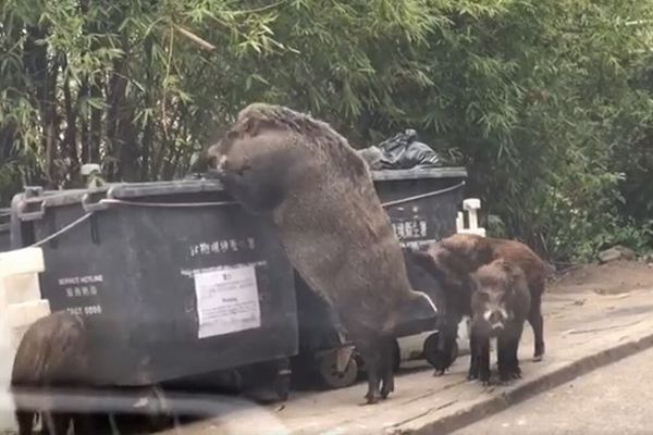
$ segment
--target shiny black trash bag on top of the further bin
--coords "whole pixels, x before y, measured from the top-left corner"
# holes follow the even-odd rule
[[[385,139],[378,146],[358,151],[372,170],[409,170],[439,167],[440,156],[427,144],[417,140],[417,132],[409,128]]]

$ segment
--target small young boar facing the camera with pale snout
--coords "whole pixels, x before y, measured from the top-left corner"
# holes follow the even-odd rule
[[[494,260],[473,273],[471,296],[470,380],[490,382],[490,339],[496,337],[502,382],[521,377],[518,349],[530,310],[526,274],[505,259]]]

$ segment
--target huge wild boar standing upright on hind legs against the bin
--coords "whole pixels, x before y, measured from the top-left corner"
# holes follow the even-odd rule
[[[387,397],[393,337],[430,327],[436,309],[408,284],[367,164],[328,124],[261,103],[209,153],[227,191],[271,216],[293,266],[335,310],[368,364],[367,401]]]

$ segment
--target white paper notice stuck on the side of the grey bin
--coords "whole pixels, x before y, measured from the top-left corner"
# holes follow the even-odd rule
[[[254,265],[195,274],[199,338],[261,325]]]

